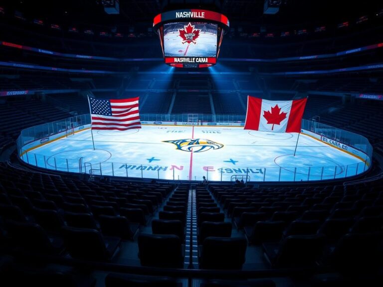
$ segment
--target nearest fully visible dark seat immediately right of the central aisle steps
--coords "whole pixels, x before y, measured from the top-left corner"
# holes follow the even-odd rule
[[[242,269],[247,242],[244,238],[207,237],[200,251],[201,269]]]

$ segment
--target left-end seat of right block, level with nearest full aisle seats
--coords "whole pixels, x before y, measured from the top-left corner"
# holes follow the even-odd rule
[[[279,244],[263,244],[266,259],[275,268],[314,267],[323,254],[323,234],[294,235]]]

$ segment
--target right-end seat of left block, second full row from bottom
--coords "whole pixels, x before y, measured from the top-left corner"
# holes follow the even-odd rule
[[[103,235],[133,240],[139,231],[138,223],[131,223],[124,216],[100,215],[98,217]]]

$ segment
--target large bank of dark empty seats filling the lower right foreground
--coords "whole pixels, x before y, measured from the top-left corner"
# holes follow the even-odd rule
[[[344,271],[352,264],[362,268],[362,262],[372,268],[375,262],[366,260],[381,255],[383,192],[375,186],[268,192],[211,186],[210,190],[248,243],[261,245],[274,268],[326,266]],[[356,252],[352,244],[358,245]]]

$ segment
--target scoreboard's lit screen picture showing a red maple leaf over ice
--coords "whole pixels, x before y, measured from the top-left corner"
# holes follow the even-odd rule
[[[164,24],[165,57],[216,57],[217,30],[214,23],[176,22]]]

